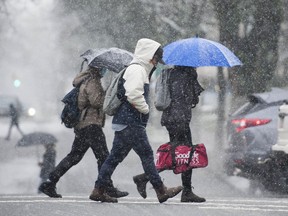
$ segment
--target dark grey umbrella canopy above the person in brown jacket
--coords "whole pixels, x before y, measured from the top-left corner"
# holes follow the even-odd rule
[[[89,49],[81,57],[87,60],[91,67],[106,68],[118,73],[132,61],[133,54],[127,50],[112,47],[108,49]]]

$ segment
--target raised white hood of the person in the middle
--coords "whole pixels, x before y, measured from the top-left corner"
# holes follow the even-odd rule
[[[149,73],[154,67],[153,64],[150,63],[150,60],[160,46],[160,43],[148,38],[138,40],[134,51],[134,58],[131,63],[141,64]]]

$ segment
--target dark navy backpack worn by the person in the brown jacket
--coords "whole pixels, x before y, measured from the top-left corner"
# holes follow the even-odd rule
[[[61,100],[65,104],[61,113],[61,123],[64,124],[67,128],[73,128],[79,123],[81,110],[78,108],[78,95],[81,84],[89,78],[90,76],[84,79],[78,86],[74,87],[70,92],[68,92]]]

